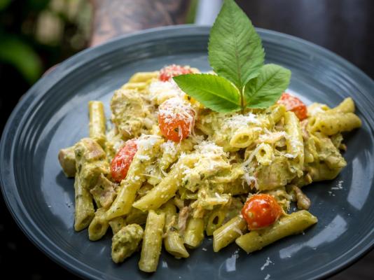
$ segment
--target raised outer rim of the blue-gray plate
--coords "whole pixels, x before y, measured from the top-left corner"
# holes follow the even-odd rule
[[[32,243],[39,248],[40,251],[48,255],[48,258],[56,262],[58,265],[64,267],[64,269],[67,269],[69,272],[72,272],[76,276],[85,277],[87,279],[100,279],[97,274],[92,274],[92,272],[97,271],[97,269],[93,267],[88,267],[85,265],[85,263],[74,260],[74,258],[64,258],[63,255],[58,255],[56,253],[55,248],[53,248],[53,242],[44,243],[40,237],[36,236],[36,233],[34,232],[34,228],[36,226],[34,225],[34,228],[31,228],[26,225],[25,218],[22,218],[21,216],[27,216],[27,213],[22,213],[22,209],[25,210],[22,204],[15,205],[16,202],[20,202],[20,198],[18,197],[18,193],[12,193],[13,192],[13,186],[16,186],[14,173],[6,174],[4,172],[4,162],[6,162],[5,158],[5,152],[6,152],[6,143],[8,140],[8,137],[10,135],[15,134],[15,132],[18,129],[18,125],[20,125],[21,120],[23,119],[17,117],[20,115],[21,109],[26,104],[29,104],[30,107],[32,107],[33,104],[38,102],[38,100],[43,97],[43,94],[48,91],[48,88],[55,85],[56,82],[64,78],[68,73],[71,73],[74,71],[74,69],[79,68],[86,62],[90,62],[93,57],[100,56],[103,53],[109,52],[110,50],[116,50],[118,49],[118,43],[125,43],[125,41],[132,41],[131,44],[134,43],[134,41],[151,41],[154,38],[162,38],[165,36],[175,36],[180,35],[181,30],[183,30],[183,34],[187,35],[202,35],[206,36],[209,34],[210,26],[201,26],[201,25],[174,25],[174,26],[168,26],[168,27],[155,27],[152,29],[144,29],[141,31],[134,32],[132,34],[125,34],[122,36],[118,36],[116,38],[113,38],[106,43],[97,45],[93,48],[87,48],[81,52],[78,52],[76,55],[73,55],[69,57],[68,59],[64,60],[58,66],[53,69],[50,73],[46,74],[46,76],[43,76],[40,78],[32,87],[30,87],[29,90],[25,93],[25,95],[22,97],[20,102],[15,106],[13,109],[11,116],[9,116],[6,125],[4,126],[3,133],[1,135],[1,141],[0,141],[0,187],[1,187],[1,193],[4,197],[4,201],[6,204],[6,207],[8,208],[8,211],[11,212],[11,216],[15,220],[16,224],[22,230],[22,232],[26,235],[26,237],[32,241]],[[321,47],[320,45],[311,43],[310,41],[306,41],[302,38],[298,38],[296,36],[291,36],[289,34],[284,34],[278,31],[272,31],[269,29],[262,29],[262,28],[256,28],[257,31],[260,32],[261,35],[266,36],[274,36],[277,38],[284,38],[286,40],[290,41],[296,41],[296,43],[299,43],[301,45],[306,45],[309,48],[312,48],[314,50],[317,50],[320,55],[325,55],[328,57],[331,57],[331,59],[334,60],[334,62],[341,64],[344,66],[348,71],[353,71],[355,73],[358,73],[359,76],[361,76],[361,82],[357,83],[357,85],[362,85],[362,83],[366,84],[366,87],[374,87],[374,80],[372,80],[366,73],[361,71],[358,67],[356,67],[351,62],[348,62],[346,59],[340,57],[339,55],[335,54],[334,52],[331,52],[331,50],[327,50],[326,48]],[[148,38],[144,40],[145,38]],[[120,45],[120,44],[119,44]],[[16,126],[12,126],[16,124]],[[13,145],[11,145],[13,148]],[[12,149],[11,149],[12,150]],[[12,153],[11,153],[12,154]],[[11,160],[11,159],[10,159]],[[12,169],[12,167],[8,167]],[[16,188],[14,188],[16,190]],[[21,211],[21,212],[20,212]],[[32,221],[29,221],[32,223]],[[43,233],[43,232],[41,232]],[[372,235],[374,235],[374,232],[371,232]],[[370,234],[367,236],[369,237]],[[44,235],[46,237],[46,235]],[[48,239],[48,238],[47,238]],[[52,246],[49,246],[52,245]],[[358,261],[360,258],[363,258],[364,255],[369,253],[374,248],[374,238],[369,240],[366,244],[361,246],[362,248],[352,248],[354,249],[355,253],[351,255],[350,258],[345,260],[344,262],[340,262],[339,265],[332,267],[331,269],[326,269],[326,271],[321,272],[317,275],[312,276],[310,279],[320,279],[327,276],[332,276],[333,274],[338,274],[338,272],[341,272],[343,269],[349,267],[354,262]],[[62,250],[61,250],[62,251]],[[69,254],[65,254],[69,257]],[[75,262],[75,264],[72,264],[71,260]],[[87,269],[84,269],[86,267]]]

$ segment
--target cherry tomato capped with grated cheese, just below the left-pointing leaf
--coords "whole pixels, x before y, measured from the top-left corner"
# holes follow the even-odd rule
[[[158,108],[158,126],[164,137],[174,142],[186,139],[195,125],[195,112],[181,99],[167,99]]]

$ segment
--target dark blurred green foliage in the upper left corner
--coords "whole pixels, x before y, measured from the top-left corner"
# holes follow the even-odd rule
[[[91,17],[88,0],[0,0],[0,64],[34,83],[88,45]]]

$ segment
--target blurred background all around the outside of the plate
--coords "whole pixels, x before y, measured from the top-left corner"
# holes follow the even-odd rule
[[[100,17],[111,17],[109,7],[113,8],[115,4],[123,6],[129,1],[0,0],[0,132],[22,94],[50,67],[76,52],[120,33],[144,27],[183,22],[212,24],[221,5],[221,0],[139,0],[132,1],[131,8],[136,9],[138,2],[146,6],[158,2],[168,7],[179,4],[181,13],[176,13],[178,18],[172,15],[170,20],[155,22],[154,25],[137,25],[134,29],[120,28],[128,22],[123,23],[125,21],[122,22],[119,15],[119,20],[112,22],[115,28],[117,25],[117,32],[100,37],[98,30],[104,22]],[[374,78],[374,1],[238,0],[237,3],[256,27],[281,31],[317,43]],[[123,7],[124,10],[126,8]],[[114,16],[118,17],[118,13],[113,13]],[[125,20],[126,13],[122,17]],[[15,225],[2,199],[0,240],[2,275],[32,280],[76,278],[28,241]],[[374,253],[371,252],[331,279],[374,279],[371,272],[373,263]],[[14,270],[14,264],[22,266]]]

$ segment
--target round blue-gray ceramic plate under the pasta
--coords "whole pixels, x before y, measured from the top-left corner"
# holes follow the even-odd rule
[[[267,62],[292,71],[290,89],[305,102],[335,106],[352,96],[363,127],[347,135],[347,167],[337,179],[305,188],[319,223],[247,255],[235,244],[213,253],[212,240],[176,260],[162,253],[158,271],[139,272],[139,253],[111,261],[111,235],[96,242],[74,232],[74,190],[57,162],[60,148],[88,135],[88,101],[106,104],[132,73],[165,64],[209,70],[209,28],[142,31],[85,50],[39,80],[9,118],[0,148],[1,186],[20,228],[41,251],[92,279],[315,279],[346,267],[374,243],[374,83],[344,59],[298,38],[258,29]],[[265,265],[267,260],[268,265]],[[269,276],[268,276],[269,277]]]

